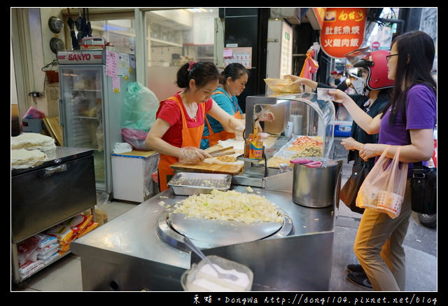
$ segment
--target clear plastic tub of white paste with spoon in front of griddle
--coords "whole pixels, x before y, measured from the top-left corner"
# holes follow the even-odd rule
[[[218,265],[216,267],[218,271],[234,274],[237,280],[218,278],[209,264],[201,260],[183,272],[181,285],[184,291],[251,291],[253,272],[246,265],[214,255],[207,258],[215,264],[215,267]]]

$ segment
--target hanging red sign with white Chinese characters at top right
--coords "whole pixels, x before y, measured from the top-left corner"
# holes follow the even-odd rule
[[[361,48],[367,8],[327,8],[321,30],[321,47],[330,57],[344,57]]]

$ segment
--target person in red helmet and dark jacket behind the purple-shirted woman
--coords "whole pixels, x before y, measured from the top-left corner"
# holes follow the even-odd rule
[[[355,62],[353,67],[361,70],[361,75],[365,78],[364,92],[360,94],[349,95],[351,99],[363,109],[365,113],[374,118],[381,113],[389,102],[391,97],[391,88],[393,88],[394,81],[388,79],[388,69],[386,55],[389,55],[387,50],[377,50],[367,57]],[[311,81],[307,78],[300,78],[293,75],[287,75],[286,78],[291,78],[294,82],[309,86],[311,89],[316,88],[331,88],[323,83]],[[349,87],[348,82],[340,83],[336,89],[345,91]],[[347,156],[347,162],[353,160],[352,174],[360,172],[364,169],[364,174],[370,172],[374,166],[375,158],[370,158],[364,161],[360,158],[359,150],[363,147],[363,144],[376,144],[378,142],[379,134],[367,134],[361,129],[353,120],[351,125],[351,137],[342,139],[341,144],[349,151]],[[356,197],[355,197],[356,199]],[[363,214],[364,209],[356,207],[356,203],[353,200],[352,203],[345,203],[351,211]],[[359,264],[347,265],[347,279],[353,284],[372,290],[367,275],[363,268]]]

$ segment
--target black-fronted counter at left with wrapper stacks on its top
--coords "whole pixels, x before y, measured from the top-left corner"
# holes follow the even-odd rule
[[[37,167],[11,170],[11,262],[19,273],[18,244],[96,204],[94,160],[90,148],[57,146]]]

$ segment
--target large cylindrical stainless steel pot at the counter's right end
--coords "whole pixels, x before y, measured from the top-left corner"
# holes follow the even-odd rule
[[[342,160],[309,159],[320,160],[322,165],[316,168],[294,165],[293,202],[305,207],[328,207],[339,199],[338,180]]]

